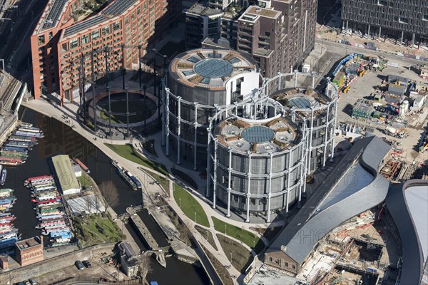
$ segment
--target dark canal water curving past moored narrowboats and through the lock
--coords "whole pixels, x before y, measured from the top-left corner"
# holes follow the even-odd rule
[[[28,177],[51,174],[48,162],[54,155],[65,154],[70,155],[70,157],[78,157],[91,170],[91,177],[97,184],[112,180],[119,194],[119,201],[113,207],[117,214],[126,212],[126,207],[131,205],[142,204],[141,192],[131,190],[117,174],[116,169],[111,166],[111,160],[91,142],[88,142],[88,140],[58,120],[41,115],[33,110],[22,108],[20,115],[22,121],[32,123],[41,128],[45,134],[45,137],[39,140],[39,145],[34,146],[33,150],[29,152],[29,157],[24,165],[8,167],[8,177],[4,188],[15,190],[14,195],[17,201],[11,212],[16,216],[14,225],[19,229],[21,239],[40,234],[40,231],[34,228],[37,221],[33,204],[30,200],[30,191],[23,185],[23,182]],[[158,244],[161,246],[166,245],[167,242],[161,229],[156,226],[147,212],[139,212],[138,214],[146,223]],[[126,227],[136,239],[141,250],[146,250],[143,242],[132,227],[129,224]],[[203,269],[179,261],[175,257],[168,257],[166,261],[167,268],[164,269],[154,259],[151,259],[153,271],[148,273],[148,281],[156,280],[161,285],[208,283],[208,277]]]

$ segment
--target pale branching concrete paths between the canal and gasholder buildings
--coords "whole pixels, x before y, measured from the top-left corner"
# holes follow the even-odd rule
[[[78,105],[76,105],[75,103],[66,103],[63,106],[63,108],[61,108],[58,105],[48,103],[46,100],[30,100],[29,102],[23,103],[23,105],[27,108],[36,110],[37,112],[42,113],[44,115],[47,115],[49,117],[56,118],[57,120],[60,120],[61,122],[65,123],[66,125],[69,125],[71,128],[76,130],[77,133],[82,135],[83,138],[86,138],[87,140],[92,142],[93,145],[96,145],[96,147],[98,147],[99,150],[101,150],[104,154],[106,154],[112,160],[118,161],[123,167],[125,167],[127,170],[131,171],[133,173],[133,175],[135,175],[139,180],[143,181],[143,179],[147,179],[147,175],[145,174],[145,172],[143,172],[141,170],[150,170],[151,172],[156,172],[156,171],[152,170],[151,168],[145,167],[143,165],[139,165],[136,162],[131,162],[130,160],[126,160],[125,158],[116,154],[116,152],[111,150],[109,147],[104,145],[105,143],[110,143],[110,144],[119,144],[119,145],[131,144],[134,146],[138,146],[140,143],[140,140],[137,140],[136,138],[131,138],[128,140],[111,140],[111,139],[107,139],[107,138],[103,138],[103,139],[97,138],[96,140],[94,140],[95,136],[93,134],[89,133],[86,129],[82,128],[82,126],[78,124],[78,120],[76,120],[76,112],[78,110]],[[67,115],[68,119],[64,119],[63,115]],[[151,139],[156,140],[156,142],[161,142],[161,134],[158,133],[156,135],[153,135],[151,137],[146,138],[146,140],[151,140]],[[198,176],[198,174],[199,174],[198,172],[192,173],[191,170],[185,169],[183,167],[180,167],[179,165],[174,165],[173,163],[171,163],[170,160],[168,159],[168,157],[165,157],[163,151],[161,150],[161,144],[160,143],[156,143],[156,153],[158,154],[158,158],[156,159],[156,161],[159,163],[163,163],[168,168],[169,171],[172,167],[175,167],[175,169],[183,171],[187,174],[189,174],[189,173],[193,174],[193,177],[195,175]],[[162,175],[161,173],[157,173],[157,174],[162,176],[162,177],[165,177],[165,175]],[[167,177],[167,178],[169,178],[169,177]],[[200,184],[202,184],[203,181],[202,180],[199,180],[199,181],[196,180],[196,182],[198,183],[198,186],[199,186]],[[153,185],[147,183],[146,185],[147,185],[146,190],[148,191],[148,193],[150,195],[156,195],[158,193],[163,192],[161,186],[156,185],[156,183],[154,183]],[[188,188],[188,190],[190,189],[189,187],[187,187],[187,188]],[[191,195],[193,195],[193,197],[195,197],[195,199],[197,199],[197,201],[200,203],[200,205],[205,210],[205,212],[208,216],[208,220],[210,221],[209,230],[210,230],[210,232],[213,233],[213,237],[215,238],[215,244],[218,247],[218,250],[215,250],[205,240],[204,237],[200,236],[200,234],[195,234],[195,237],[198,239],[198,241],[203,243],[204,246],[211,253],[213,253],[215,255],[215,257],[217,257],[218,260],[225,266],[228,266],[231,264],[230,264],[230,261],[229,261],[227,255],[225,254],[225,252],[223,252],[223,249],[220,246],[220,242],[218,242],[218,239],[215,235],[216,231],[214,229],[214,224],[213,224],[213,221],[210,219],[210,217],[216,217],[216,218],[222,220],[223,222],[227,222],[228,224],[233,224],[236,227],[240,227],[242,229],[248,230],[249,232],[252,232],[253,234],[255,234],[258,237],[260,237],[260,234],[258,234],[258,232],[255,232],[253,229],[251,229],[251,227],[264,227],[264,228],[267,227],[267,224],[264,224],[264,223],[263,224],[248,224],[245,222],[239,222],[239,221],[236,221],[233,219],[228,219],[223,214],[220,214],[219,212],[215,211],[211,207],[211,204],[209,204],[209,202],[205,199],[205,197],[203,197],[203,195],[200,195],[199,192],[195,192],[193,190],[190,190],[189,192]],[[171,180],[170,180],[170,193],[173,193],[173,183]],[[180,215],[181,219],[188,221],[192,225],[191,230],[195,231],[195,229],[193,228],[195,223],[192,220],[188,219],[188,217],[185,216],[185,214],[181,211],[180,207],[178,207],[178,204],[175,203],[175,200],[173,199],[173,197],[168,198],[168,203],[170,204],[171,207],[173,207],[175,212],[177,212]],[[117,217],[117,213],[114,212],[113,209],[111,209],[110,207],[108,208],[108,212],[110,212],[110,214],[113,218]],[[133,242],[133,238],[131,237],[131,234],[129,234],[129,232],[126,230],[126,227],[123,227],[123,223],[122,223],[121,219],[116,219],[116,223],[118,223],[118,226],[120,228],[123,228],[123,233],[126,234],[127,240],[129,242],[131,242],[131,245],[133,247],[136,247],[136,243]],[[277,222],[275,224],[282,225],[283,222]],[[263,239],[263,242],[265,242],[265,244],[267,244],[266,239]],[[243,246],[245,248],[247,248],[248,250],[251,250],[250,247],[248,247],[246,244],[243,244]],[[138,252],[138,250],[136,252]],[[228,272],[229,272],[230,276],[236,276],[238,279],[243,278],[243,276],[240,276],[240,272],[238,270],[236,270],[233,266],[230,266],[230,268],[228,268]],[[238,276],[240,276],[240,278]],[[235,279],[235,281],[236,281],[236,279]]]

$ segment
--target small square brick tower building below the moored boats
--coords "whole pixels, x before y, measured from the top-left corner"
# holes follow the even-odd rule
[[[42,261],[43,257],[43,237],[31,237],[16,242],[16,261],[21,266],[34,264]]]

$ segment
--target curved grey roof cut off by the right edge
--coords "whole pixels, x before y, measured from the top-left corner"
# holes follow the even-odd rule
[[[417,197],[412,197],[416,193]],[[387,195],[387,208],[402,243],[400,284],[419,284],[422,278],[427,261],[427,197],[428,180],[394,185]]]

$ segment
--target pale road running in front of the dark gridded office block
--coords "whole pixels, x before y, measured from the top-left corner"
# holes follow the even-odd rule
[[[409,64],[427,64],[427,61],[420,61],[419,59],[414,58],[404,58],[403,56],[397,56],[394,53],[387,53],[385,51],[372,51],[366,48],[358,48],[357,46],[347,46],[343,43],[336,43],[333,41],[325,41],[322,38],[316,38],[316,43],[321,43],[323,46],[328,46],[328,50],[339,54],[340,56],[345,56],[347,53],[362,53],[366,56],[384,56],[389,61],[399,61],[406,65]]]

